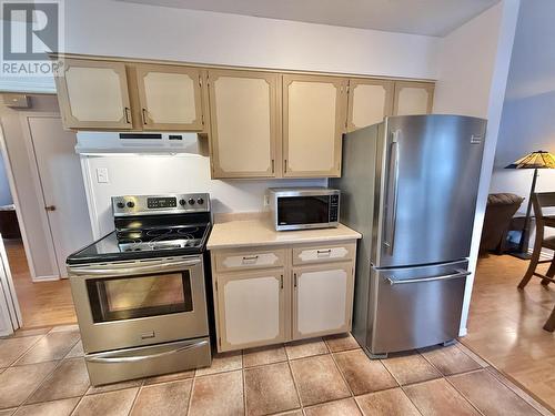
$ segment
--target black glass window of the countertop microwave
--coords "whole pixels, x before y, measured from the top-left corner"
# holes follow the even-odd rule
[[[320,224],[329,222],[330,196],[278,197],[278,224]]]

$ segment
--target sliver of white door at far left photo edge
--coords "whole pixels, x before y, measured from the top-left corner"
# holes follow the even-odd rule
[[[21,312],[11,278],[8,256],[0,235],[0,336],[13,334],[21,326]]]

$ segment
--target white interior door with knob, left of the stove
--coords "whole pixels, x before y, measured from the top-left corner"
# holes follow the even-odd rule
[[[58,114],[22,116],[29,158],[37,162],[33,176],[44,203],[43,223],[52,235],[50,250],[60,276],[67,277],[68,255],[92,242],[75,133],[63,130]]]

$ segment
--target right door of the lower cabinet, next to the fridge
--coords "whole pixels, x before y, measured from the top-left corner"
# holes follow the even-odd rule
[[[293,337],[339,334],[351,329],[353,266],[351,263],[293,271]]]

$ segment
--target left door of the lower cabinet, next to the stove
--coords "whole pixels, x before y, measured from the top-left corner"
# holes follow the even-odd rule
[[[282,272],[220,275],[216,280],[221,351],[284,341]]]

